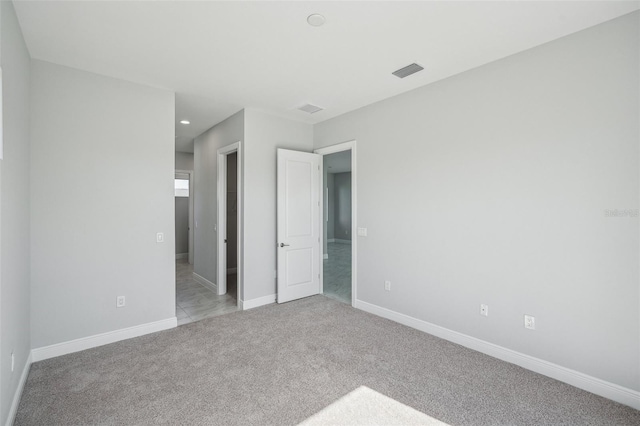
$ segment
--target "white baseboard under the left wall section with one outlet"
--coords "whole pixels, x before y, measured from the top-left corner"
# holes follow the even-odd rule
[[[120,330],[108,331],[94,336],[82,337],[68,342],[32,349],[31,358],[33,362],[43,361],[45,359],[55,358],[61,355],[84,351],[85,349],[108,345],[109,343],[119,342],[120,340],[131,339],[133,337],[143,336],[157,331],[168,330],[177,326],[178,319],[176,317],[167,318],[165,320],[136,325]]]

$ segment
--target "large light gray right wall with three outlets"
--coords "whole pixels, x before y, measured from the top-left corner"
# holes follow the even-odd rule
[[[316,125],[357,139],[358,298],[640,390],[638,20]]]

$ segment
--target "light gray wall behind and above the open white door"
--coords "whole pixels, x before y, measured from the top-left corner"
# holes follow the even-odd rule
[[[245,110],[243,300],[276,293],[277,148],[312,151],[313,127]]]

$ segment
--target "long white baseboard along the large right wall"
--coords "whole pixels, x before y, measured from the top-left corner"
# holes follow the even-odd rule
[[[571,370],[466,334],[458,333],[457,331],[449,330],[381,306],[363,302],[362,300],[356,299],[355,307],[640,410],[640,392],[634,391],[633,389],[625,388],[580,373],[579,371]]]

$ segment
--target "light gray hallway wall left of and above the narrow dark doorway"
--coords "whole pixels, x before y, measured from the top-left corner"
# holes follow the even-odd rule
[[[237,112],[198,136],[194,142],[195,259],[193,270],[216,282],[218,217],[218,149],[244,140],[244,111]]]

